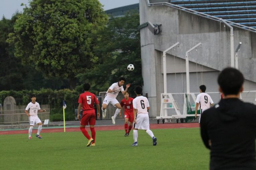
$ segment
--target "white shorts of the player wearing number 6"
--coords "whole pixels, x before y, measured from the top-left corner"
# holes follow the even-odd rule
[[[136,114],[136,124],[133,123],[134,129],[149,129],[149,116],[148,113],[139,113]]]

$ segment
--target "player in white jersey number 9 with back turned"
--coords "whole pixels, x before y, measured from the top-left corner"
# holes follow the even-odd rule
[[[211,96],[205,93],[205,90],[206,90],[205,85],[200,85],[199,90],[200,90],[200,94],[198,94],[196,97],[195,117],[197,117],[197,109],[198,109],[198,106],[200,105],[199,107],[199,109],[201,109],[200,117],[199,117],[199,123],[200,123],[201,114],[204,112],[204,110],[210,108],[210,106],[213,105],[213,101]]]

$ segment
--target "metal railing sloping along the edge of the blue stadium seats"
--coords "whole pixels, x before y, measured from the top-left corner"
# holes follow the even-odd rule
[[[217,18],[217,17],[211,16],[211,15],[208,15],[208,14],[204,14],[202,12],[194,11],[194,10],[191,10],[191,9],[188,9],[188,8],[184,8],[184,7],[181,7],[181,6],[178,6],[178,5],[174,5],[174,4],[171,4],[171,3],[168,3],[168,2],[150,3],[149,0],[147,0],[147,4],[148,4],[148,6],[162,6],[162,5],[166,5],[166,6],[173,7],[173,8],[182,10],[182,11],[189,12],[191,14],[195,14],[195,15],[198,15],[198,16],[201,16],[201,17],[209,18],[211,20],[215,20],[215,21],[218,21],[218,22],[222,22],[222,20],[223,20],[221,18]],[[235,26],[237,28],[241,28],[241,29],[244,29],[244,30],[256,32],[255,28],[247,27],[247,26],[241,25],[241,24],[237,24],[237,23],[234,23],[232,21],[227,21],[227,20],[225,20],[225,21],[227,23],[229,23],[230,25]]]

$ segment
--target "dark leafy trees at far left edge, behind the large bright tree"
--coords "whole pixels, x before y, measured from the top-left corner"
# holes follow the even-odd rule
[[[22,90],[53,88],[60,89],[68,87],[65,80],[44,79],[42,74],[36,71],[31,65],[21,65],[21,60],[14,57],[14,47],[6,43],[9,33],[13,33],[13,26],[19,12],[13,14],[11,19],[5,17],[0,20],[0,89],[1,90]]]

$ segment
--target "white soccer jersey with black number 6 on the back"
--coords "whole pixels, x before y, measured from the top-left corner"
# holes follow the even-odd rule
[[[140,113],[148,113],[147,107],[149,107],[149,102],[147,97],[144,97],[142,95],[137,96],[132,101],[133,108],[137,109],[137,114]]]

